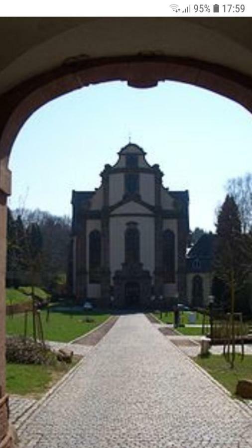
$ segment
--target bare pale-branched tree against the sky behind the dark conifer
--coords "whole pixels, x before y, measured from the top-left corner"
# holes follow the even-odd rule
[[[252,230],[252,173],[229,179],[226,190],[238,205],[243,232],[249,232]]]

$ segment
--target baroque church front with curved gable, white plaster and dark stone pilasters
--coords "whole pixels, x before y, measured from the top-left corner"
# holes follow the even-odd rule
[[[116,308],[185,301],[188,191],[164,188],[138,145],[118,154],[98,189],[72,192],[72,293]]]

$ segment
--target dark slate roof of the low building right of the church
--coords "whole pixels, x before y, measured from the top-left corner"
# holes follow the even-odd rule
[[[187,272],[211,272],[216,235],[206,233],[187,254]]]

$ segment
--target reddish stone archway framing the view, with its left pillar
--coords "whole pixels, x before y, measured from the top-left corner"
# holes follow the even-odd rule
[[[24,77],[22,82],[0,96],[0,448],[11,446],[4,368],[6,199],[11,180],[8,158],[16,135],[27,118],[60,95],[90,84],[116,80],[138,88],[154,87],[165,80],[189,83],[233,99],[252,112],[252,77],[239,70],[239,64],[236,70],[225,64],[198,59],[197,55],[174,56],[176,53],[173,52],[169,56],[162,51],[144,52],[143,49],[141,52],[141,48],[140,45],[138,51],[128,56],[89,58],[83,55],[66,60],[56,68],[38,70],[39,74],[31,78]]]

